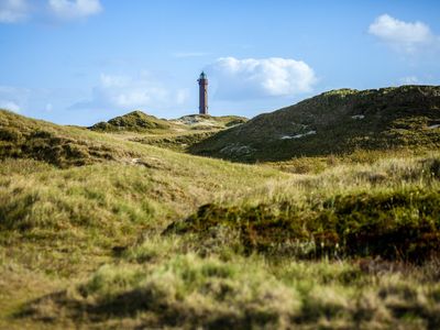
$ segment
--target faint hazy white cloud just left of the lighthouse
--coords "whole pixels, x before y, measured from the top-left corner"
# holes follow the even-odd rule
[[[187,89],[165,87],[147,73],[134,77],[123,75],[100,76],[100,84],[92,90],[91,99],[77,102],[73,109],[166,109],[188,100]]]

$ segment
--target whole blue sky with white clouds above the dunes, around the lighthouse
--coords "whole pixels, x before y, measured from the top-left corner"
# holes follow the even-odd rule
[[[334,88],[440,85],[440,1],[0,0],[0,108],[90,125],[254,117]]]

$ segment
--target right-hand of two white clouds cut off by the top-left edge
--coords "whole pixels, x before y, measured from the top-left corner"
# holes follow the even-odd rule
[[[77,19],[100,13],[99,0],[48,0],[52,12],[61,19]]]

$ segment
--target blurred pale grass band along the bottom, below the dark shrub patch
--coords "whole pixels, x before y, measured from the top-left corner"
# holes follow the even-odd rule
[[[89,279],[36,299],[21,317],[150,328],[437,329],[439,264],[201,257],[179,238],[146,240]],[[223,251],[227,253],[226,251]],[[395,267],[395,268],[393,268]]]

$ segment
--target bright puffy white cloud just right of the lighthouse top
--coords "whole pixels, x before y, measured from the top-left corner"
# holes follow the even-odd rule
[[[207,67],[217,80],[217,96],[222,99],[292,96],[312,90],[314,69],[290,58],[221,57]]]

